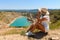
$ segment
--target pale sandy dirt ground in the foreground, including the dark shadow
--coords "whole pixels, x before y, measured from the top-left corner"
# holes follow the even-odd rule
[[[11,29],[2,29],[0,33]],[[20,34],[0,35],[0,40],[60,40],[60,29],[50,30],[48,35],[37,32],[35,36],[23,36]]]

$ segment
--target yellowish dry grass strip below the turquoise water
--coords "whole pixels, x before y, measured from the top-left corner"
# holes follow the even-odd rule
[[[7,28],[7,29],[1,29],[0,35],[10,35],[10,34],[24,35],[25,32],[26,32],[26,28]]]

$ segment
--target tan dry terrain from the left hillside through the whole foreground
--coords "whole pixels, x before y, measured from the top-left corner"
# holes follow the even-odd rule
[[[28,37],[24,35],[24,28],[10,28],[8,24],[21,15],[16,13],[0,12],[0,40],[60,40],[60,29],[49,30],[48,35],[37,32],[34,36]]]

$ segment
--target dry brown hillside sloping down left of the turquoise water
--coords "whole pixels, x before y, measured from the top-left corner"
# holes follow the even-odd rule
[[[0,28],[7,26],[16,17],[20,16],[17,12],[0,12]]]

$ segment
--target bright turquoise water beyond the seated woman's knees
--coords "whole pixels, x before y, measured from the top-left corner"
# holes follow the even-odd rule
[[[29,26],[30,24],[26,17],[19,17],[10,26]]]

